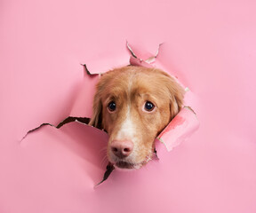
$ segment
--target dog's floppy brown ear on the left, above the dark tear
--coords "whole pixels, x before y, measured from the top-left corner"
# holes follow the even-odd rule
[[[89,125],[102,129],[102,104],[100,100],[99,87],[96,88],[96,93],[94,95],[92,106],[92,118],[89,122]]]

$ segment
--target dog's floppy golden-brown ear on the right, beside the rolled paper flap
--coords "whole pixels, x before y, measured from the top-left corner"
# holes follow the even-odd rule
[[[170,91],[170,113],[171,120],[175,117],[176,114],[180,112],[180,109],[183,106],[183,99],[185,91],[180,86],[175,79],[170,76],[170,83],[168,84],[168,89]]]

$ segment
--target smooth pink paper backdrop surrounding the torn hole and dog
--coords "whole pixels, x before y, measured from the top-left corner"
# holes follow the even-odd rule
[[[256,2],[0,2],[0,212],[256,212]],[[83,82],[165,42],[200,129],[159,161],[105,171],[103,132],[61,130]],[[143,54],[142,54],[143,57]],[[90,67],[91,66],[91,67]],[[105,70],[103,70],[105,71]]]

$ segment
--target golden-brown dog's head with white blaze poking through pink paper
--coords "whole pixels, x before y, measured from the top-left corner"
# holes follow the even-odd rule
[[[132,170],[151,160],[155,138],[179,113],[184,93],[157,68],[127,66],[101,75],[89,125],[108,132],[108,161]]]

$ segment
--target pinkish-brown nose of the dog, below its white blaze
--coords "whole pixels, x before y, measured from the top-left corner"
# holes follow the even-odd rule
[[[124,158],[132,153],[133,143],[131,140],[113,140],[110,148],[116,157]]]

